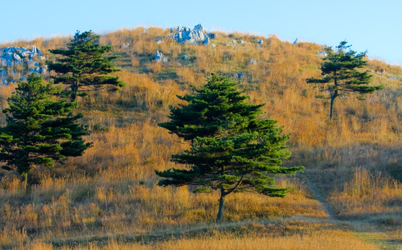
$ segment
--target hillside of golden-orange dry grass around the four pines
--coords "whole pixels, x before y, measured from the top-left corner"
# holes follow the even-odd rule
[[[267,242],[273,249],[401,247],[401,67],[369,60],[372,85],[384,89],[364,101],[353,94],[337,99],[328,122],[328,102],[305,83],[319,76],[317,53],[324,46],[221,32],[205,46],[181,44],[171,35],[161,28],[101,35],[99,42],[120,56],[122,72],[116,74],[126,87],[78,97],[83,123],[92,130],[87,140],[94,144],[83,156],[40,167],[31,190],[0,170],[1,248],[255,249]],[[68,41],[38,38],[1,47],[35,45],[53,60],[48,50]],[[167,60],[156,61],[156,51]],[[180,103],[176,95],[205,84],[212,72],[239,81],[251,103],[266,103],[261,118],[278,120],[291,134],[292,157],[284,164],[306,169],[277,176],[278,186],[292,190],[285,199],[228,197],[223,226],[213,224],[217,194],[160,188],[154,172],[175,167],[171,155],[188,147],[158,123]],[[0,88],[1,108],[14,88]]]

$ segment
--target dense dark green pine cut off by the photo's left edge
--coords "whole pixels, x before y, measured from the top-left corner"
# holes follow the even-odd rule
[[[83,116],[71,115],[76,102],[55,100],[60,88],[44,84],[41,76],[31,74],[20,82],[8,98],[7,125],[0,128],[0,162],[3,169],[17,170],[26,181],[37,165],[53,167],[55,161],[81,156],[90,147],[83,135],[89,134],[77,122]]]

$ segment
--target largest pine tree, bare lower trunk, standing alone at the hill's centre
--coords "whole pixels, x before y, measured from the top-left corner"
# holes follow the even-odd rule
[[[191,143],[191,149],[172,156],[185,169],[158,172],[159,185],[197,185],[196,192],[219,190],[217,222],[224,215],[224,199],[232,192],[258,192],[284,197],[286,188],[275,188],[275,174],[294,174],[303,167],[281,167],[290,153],[276,121],[258,119],[262,105],[246,103],[231,78],[212,74],[188,102],[171,108],[170,122],[160,124]]]

